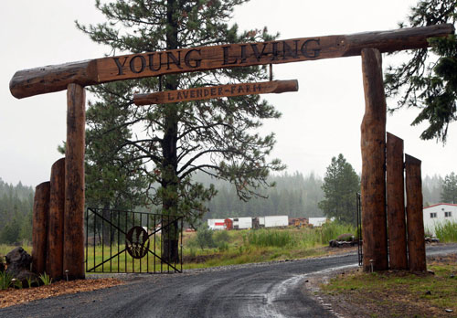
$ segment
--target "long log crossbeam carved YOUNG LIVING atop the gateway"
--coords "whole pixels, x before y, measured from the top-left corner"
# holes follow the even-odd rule
[[[377,48],[380,52],[427,48],[427,38],[443,37],[453,33],[454,26],[447,24],[349,36],[304,37],[99,58],[20,70],[10,81],[10,90],[16,98],[24,98],[66,90],[69,83],[88,86],[114,80],[140,79],[207,69],[350,57],[360,55],[362,48]]]

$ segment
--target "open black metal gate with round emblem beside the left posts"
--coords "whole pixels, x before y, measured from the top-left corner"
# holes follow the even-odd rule
[[[89,207],[85,219],[87,272],[182,272],[183,217]]]

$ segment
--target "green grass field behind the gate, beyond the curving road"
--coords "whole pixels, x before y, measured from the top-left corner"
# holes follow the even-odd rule
[[[231,264],[244,264],[270,260],[292,260],[324,255],[324,246],[330,239],[343,233],[355,233],[355,228],[337,223],[322,228],[271,228],[260,230],[214,231],[214,247],[201,249],[197,244],[197,232],[183,235],[183,269],[215,267]],[[125,251],[125,246],[89,246],[85,250],[86,270],[91,272],[139,272],[174,271],[161,262],[160,236],[151,239],[149,252],[141,260],[133,260]],[[23,246],[31,254],[30,246]],[[13,246],[0,245],[0,255],[5,255]],[[155,254],[155,256],[154,256]],[[111,259],[111,260],[110,260]],[[101,264],[101,265],[100,265]],[[86,265],[86,264],[85,264]],[[181,264],[172,264],[181,270]]]

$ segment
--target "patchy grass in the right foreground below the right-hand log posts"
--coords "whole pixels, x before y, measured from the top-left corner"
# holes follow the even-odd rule
[[[346,272],[322,286],[323,296],[330,297],[326,302],[345,304],[339,311],[349,311],[347,316],[355,311],[357,316],[374,318],[456,317],[457,254],[430,258],[427,267],[434,274]]]

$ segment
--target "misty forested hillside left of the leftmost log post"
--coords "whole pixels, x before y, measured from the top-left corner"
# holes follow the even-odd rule
[[[0,243],[16,243],[32,239],[31,186],[8,185],[0,178]]]

